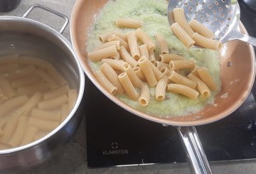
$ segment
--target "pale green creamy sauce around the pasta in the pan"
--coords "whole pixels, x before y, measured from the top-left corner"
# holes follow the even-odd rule
[[[161,33],[166,38],[171,53],[177,53],[188,59],[195,59],[198,66],[208,68],[210,75],[218,85],[220,90],[220,59],[218,51],[203,48],[187,49],[171,33],[167,19],[166,9],[168,1],[165,0],[116,0],[109,1],[105,7],[95,16],[95,21],[88,33],[87,51],[92,51],[95,46],[102,44],[98,35],[107,31],[119,31],[127,33],[134,29],[120,29],[115,26],[117,18],[136,18],[143,21],[143,30],[154,39],[155,33]],[[154,40],[156,43],[156,40]],[[157,45],[157,43],[156,43]],[[159,48],[156,47],[156,58],[159,55]],[[99,69],[100,62],[90,62],[92,70]],[[126,94],[117,95],[117,97],[147,114],[155,116],[182,116],[196,113],[203,109],[206,104],[214,104],[214,97],[217,92],[211,92],[208,99],[199,96],[197,99],[188,99],[180,94],[166,92],[166,99],[158,102],[155,99],[155,88],[151,88],[151,101],[146,107],[142,107],[139,102],[134,102]]]

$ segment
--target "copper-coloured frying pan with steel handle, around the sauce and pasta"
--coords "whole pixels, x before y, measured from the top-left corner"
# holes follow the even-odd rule
[[[71,40],[85,74],[103,94],[120,107],[150,121],[171,126],[179,126],[178,133],[182,138],[185,138],[185,141],[192,141],[195,146],[201,145],[200,141],[198,141],[196,129],[187,126],[208,124],[223,119],[225,116],[234,112],[235,109],[238,109],[242,102],[245,101],[255,80],[255,53],[252,46],[237,40],[233,40],[223,45],[222,50],[220,50],[222,88],[220,93],[215,97],[214,106],[208,105],[201,112],[189,116],[169,116],[168,119],[145,114],[129,107],[127,104],[119,101],[114,95],[107,92],[107,90],[97,82],[87,64],[87,53],[85,49],[87,28],[90,27],[95,13],[97,13],[106,2],[107,0],[77,0],[73,8],[70,23]],[[240,25],[240,28],[241,31],[246,33],[242,24]],[[195,148],[193,145],[191,146],[188,144],[188,142],[186,142],[186,146],[188,146],[186,152],[198,153],[196,156],[191,156],[191,158],[189,158],[190,161],[188,161],[191,165],[198,165],[193,166],[194,170],[200,170],[201,173],[204,173],[204,171],[205,173],[210,173],[209,166],[201,168],[203,165],[208,165],[208,162],[204,162],[206,156],[203,153],[203,149],[201,147]],[[193,161],[195,159],[198,160],[197,162],[199,163]]]

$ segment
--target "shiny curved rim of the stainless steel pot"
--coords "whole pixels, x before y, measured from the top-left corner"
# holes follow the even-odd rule
[[[75,51],[74,51],[72,45],[58,31],[55,31],[53,28],[50,28],[50,26],[47,26],[44,23],[34,21],[30,18],[23,18],[23,17],[18,17],[18,16],[0,16],[0,21],[2,21],[2,20],[11,20],[11,21],[16,21],[16,22],[28,23],[30,25],[36,26],[37,28],[43,29],[44,31],[46,31],[50,35],[53,35],[53,36],[57,37],[57,39],[59,39],[61,41],[61,43],[63,45],[65,45],[65,48],[68,48],[68,52],[72,53],[73,58],[75,58],[75,63],[78,67],[78,72],[79,72],[79,75],[80,75],[80,79],[79,79],[80,85],[79,85],[78,99],[75,102],[75,106],[73,107],[70,114],[68,114],[66,119],[61,124],[59,124],[58,127],[53,129],[53,131],[50,131],[49,134],[47,134],[46,136],[43,136],[42,138],[39,138],[36,141],[33,141],[32,143],[28,143],[24,146],[18,146],[16,148],[9,148],[9,149],[5,149],[5,150],[0,150],[0,156],[3,156],[3,155],[8,156],[8,155],[11,155],[11,153],[17,153],[18,151],[27,151],[27,150],[29,150],[29,148],[33,148],[33,147],[38,146],[39,144],[46,141],[46,139],[55,135],[58,131],[60,131],[60,129],[63,128],[63,126],[65,126],[68,123],[68,121],[70,121],[70,119],[73,117],[73,115],[77,111],[77,109],[78,109],[78,107],[79,107],[79,105],[82,101],[82,96],[83,96],[84,89],[85,89],[85,74],[84,74],[84,71],[82,70],[82,67],[80,66],[80,62],[78,61],[77,55],[75,54]]]

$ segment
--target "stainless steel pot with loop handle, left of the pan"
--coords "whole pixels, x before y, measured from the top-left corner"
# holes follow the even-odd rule
[[[60,32],[26,18],[34,8],[41,8],[65,18]],[[0,55],[21,53],[45,58],[68,79],[70,86],[78,90],[78,100],[68,117],[50,134],[26,146],[0,151],[0,173],[26,170],[46,161],[70,140],[82,118],[82,95],[85,77],[72,46],[61,33],[68,18],[45,6],[33,5],[23,17],[0,16]]]

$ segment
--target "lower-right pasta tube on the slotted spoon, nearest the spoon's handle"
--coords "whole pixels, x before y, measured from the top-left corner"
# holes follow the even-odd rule
[[[213,40],[210,38],[206,38],[201,36],[198,33],[194,33],[192,36],[193,40],[196,41],[196,45],[199,45],[203,48],[209,48],[211,50],[220,50],[222,43],[220,40]]]

